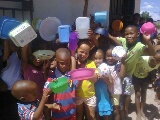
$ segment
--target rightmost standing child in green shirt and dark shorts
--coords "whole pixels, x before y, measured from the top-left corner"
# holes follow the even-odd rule
[[[150,81],[149,72],[158,69],[160,66],[160,51],[156,51],[155,56],[142,56],[133,74],[133,85],[135,90],[135,104],[137,110],[137,119],[141,120],[141,116],[146,119],[143,108],[146,102],[146,91]]]

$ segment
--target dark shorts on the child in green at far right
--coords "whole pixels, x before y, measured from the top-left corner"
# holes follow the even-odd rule
[[[135,76],[133,76],[133,79],[132,79],[132,84],[134,86],[143,86],[143,85],[146,85],[146,84],[149,84],[150,82],[150,77],[145,77],[145,78],[137,78]]]

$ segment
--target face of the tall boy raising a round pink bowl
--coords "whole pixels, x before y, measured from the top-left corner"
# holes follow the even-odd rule
[[[139,36],[139,32],[137,32],[135,27],[127,27],[124,32],[124,36],[126,38],[126,42],[128,44],[133,44],[137,41],[137,37]]]

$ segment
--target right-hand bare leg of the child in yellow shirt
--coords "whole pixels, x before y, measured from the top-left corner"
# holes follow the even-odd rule
[[[86,112],[87,112],[87,118],[88,118],[88,120],[96,120],[96,117],[95,117],[95,107],[88,106],[88,105],[85,104],[85,109],[86,109]]]

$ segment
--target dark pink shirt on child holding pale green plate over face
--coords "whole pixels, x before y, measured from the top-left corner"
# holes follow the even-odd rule
[[[43,71],[37,70],[32,65],[27,65],[25,70],[23,70],[23,75],[25,80],[31,80],[38,85],[38,99],[41,100],[43,94],[43,87],[45,84],[45,79]]]

